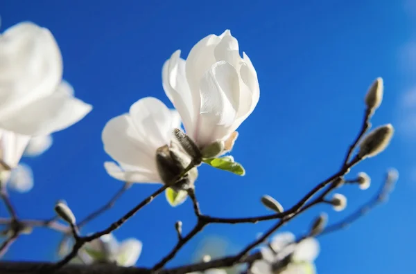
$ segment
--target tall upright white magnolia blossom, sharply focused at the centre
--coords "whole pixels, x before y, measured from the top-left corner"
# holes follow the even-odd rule
[[[200,149],[236,138],[234,131],[259,101],[257,73],[245,53],[240,57],[239,42],[229,30],[200,40],[186,61],[175,51],[164,63],[162,80],[188,136]]]

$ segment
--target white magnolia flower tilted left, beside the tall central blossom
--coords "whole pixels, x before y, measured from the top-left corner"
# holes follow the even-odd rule
[[[129,113],[107,122],[104,149],[118,163],[104,163],[108,174],[132,183],[164,183],[157,168],[157,149],[171,146],[173,129],[180,127],[178,116],[163,102],[147,97],[132,104]]]

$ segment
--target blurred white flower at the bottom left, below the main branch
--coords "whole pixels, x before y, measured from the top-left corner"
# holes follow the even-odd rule
[[[87,264],[110,262],[119,266],[134,266],[141,254],[141,241],[130,238],[119,243],[112,234],[104,235],[83,247],[82,260]]]

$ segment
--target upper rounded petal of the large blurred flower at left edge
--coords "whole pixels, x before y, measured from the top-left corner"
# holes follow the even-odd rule
[[[49,30],[24,22],[0,36],[0,117],[51,95],[61,77],[62,57]]]

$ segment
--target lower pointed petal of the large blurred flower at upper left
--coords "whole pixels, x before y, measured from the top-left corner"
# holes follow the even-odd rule
[[[92,106],[69,95],[67,85],[62,82],[51,95],[31,102],[7,119],[1,118],[0,127],[19,134],[47,135],[75,124]]]

